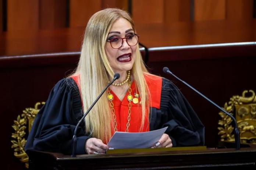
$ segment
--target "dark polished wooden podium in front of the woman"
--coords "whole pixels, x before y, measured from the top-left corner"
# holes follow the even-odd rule
[[[29,169],[256,169],[256,148],[152,151],[120,154],[63,155],[29,151]]]

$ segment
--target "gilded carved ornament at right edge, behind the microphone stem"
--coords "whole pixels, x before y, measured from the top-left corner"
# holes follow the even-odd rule
[[[256,96],[253,90],[245,90],[242,96],[232,96],[224,109],[230,114],[235,114],[241,143],[256,143]],[[218,135],[221,141],[235,141],[232,119],[224,112],[219,112],[221,119],[218,121]]]

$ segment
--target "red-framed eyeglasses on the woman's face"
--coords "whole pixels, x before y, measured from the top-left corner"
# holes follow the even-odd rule
[[[124,39],[126,39],[127,44],[131,47],[138,44],[139,36],[137,34],[131,34],[124,38],[113,37],[110,40],[107,40],[107,42],[110,42],[110,45],[112,48],[117,49],[122,47],[122,44],[124,43]]]

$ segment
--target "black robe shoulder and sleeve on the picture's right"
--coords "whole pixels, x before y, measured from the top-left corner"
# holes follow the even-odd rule
[[[173,146],[205,144],[205,127],[181,91],[170,80],[162,79],[160,109],[152,108],[150,130],[168,127]]]

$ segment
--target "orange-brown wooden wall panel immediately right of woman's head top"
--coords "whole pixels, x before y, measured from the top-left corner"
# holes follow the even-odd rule
[[[163,23],[164,0],[132,1],[132,16],[135,23]]]

